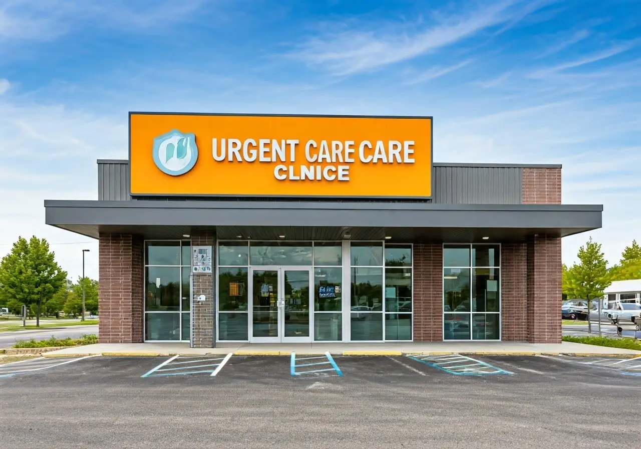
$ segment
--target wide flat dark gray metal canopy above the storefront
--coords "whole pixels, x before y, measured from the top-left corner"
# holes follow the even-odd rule
[[[601,205],[452,205],[281,201],[45,201],[46,223],[97,238],[101,232],[177,239],[194,228],[219,239],[522,241],[601,227]],[[349,237],[345,237],[349,235]],[[239,237],[240,236],[240,237]]]

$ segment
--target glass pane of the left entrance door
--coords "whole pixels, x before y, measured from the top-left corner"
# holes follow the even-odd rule
[[[254,337],[278,337],[278,271],[254,271],[253,289]]]

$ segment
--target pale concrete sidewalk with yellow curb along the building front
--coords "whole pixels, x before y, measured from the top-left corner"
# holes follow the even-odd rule
[[[594,346],[592,344],[569,343],[537,344],[512,341],[496,342],[399,342],[399,343],[218,343],[216,348],[190,348],[188,343],[118,343],[88,344],[65,348],[44,357],[69,357],[70,355],[119,355],[158,356],[190,354],[235,355],[290,355],[292,352],[317,355],[330,352],[334,355],[403,355],[403,354],[485,354],[485,355],[604,355],[641,356],[641,351]]]

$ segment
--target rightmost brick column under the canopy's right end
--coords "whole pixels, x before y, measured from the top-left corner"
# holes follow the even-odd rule
[[[527,269],[528,341],[561,343],[561,239],[531,237]]]

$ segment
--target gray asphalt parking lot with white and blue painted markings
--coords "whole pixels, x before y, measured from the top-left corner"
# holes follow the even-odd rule
[[[629,448],[640,385],[603,357],[34,359],[0,366],[0,444]]]

